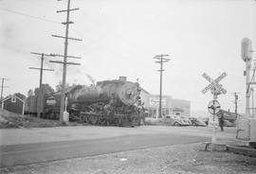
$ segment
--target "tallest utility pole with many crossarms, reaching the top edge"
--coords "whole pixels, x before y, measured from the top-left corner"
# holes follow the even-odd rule
[[[80,57],[67,56],[68,40],[82,41],[81,39],[69,38],[68,37],[69,25],[74,24],[74,22],[69,21],[69,13],[70,13],[70,11],[73,11],[73,10],[78,10],[78,8],[70,9],[70,0],[67,0],[67,9],[57,11],[57,12],[66,12],[66,21],[64,23],[62,23],[65,26],[65,36],[52,35],[52,37],[57,37],[57,38],[64,39],[64,55],[57,55],[57,54],[54,55],[54,54],[52,54],[53,56],[63,57],[64,61],[50,61],[50,62],[62,63],[64,65],[62,97],[61,97],[61,109],[60,109],[60,121],[64,121],[64,105],[65,105],[65,89],[64,88],[65,88],[65,77],[66,77],[66,65],[67,64],[80,65],[80,63],[76,63],[76,62],[67,62],[67,58],[81,59]]]

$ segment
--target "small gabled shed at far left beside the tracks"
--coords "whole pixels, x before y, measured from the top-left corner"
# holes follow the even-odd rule
[[[2,101],[2,109],[11,113],[24,114],[25,101],[18,96],[9,96]]]

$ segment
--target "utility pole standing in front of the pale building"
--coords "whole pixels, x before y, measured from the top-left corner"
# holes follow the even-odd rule
[[[162,117],[162,72],[164,71],[163,69],[163,63],[164,62],[168,62],[170,61],[170,59],[167,59],[165,57],[168,57],[169,55],[156,55],[154,57],[155,63],[159,63],[160,64],[160,69],[158,70],[160,72],[160,94],[159,94],[159,114],[158,117],[161,118]]]

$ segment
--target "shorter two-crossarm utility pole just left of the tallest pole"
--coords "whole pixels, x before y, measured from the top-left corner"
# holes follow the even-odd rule
[[[37,97],[37,117],[40,117],[40,113],[42,113],[42,104],[43,104],[43,89],[42,89],[42,81],[43,81],[43,71],[54,71],[53,69],[46,69],[44,68],[44,61],[45,61],[45,56],[51,56],[47,55],[45,53],[35,53],[31,52],[31,54],[34,55],[40,55],[41,56],[41,66],[40,68],[36,67],[29,67],[29,69],[35,69],[35,70],[40,70],[40,79],[39,79],[39,95]]]

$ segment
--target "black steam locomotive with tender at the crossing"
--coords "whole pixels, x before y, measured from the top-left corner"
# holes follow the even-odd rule
[[[139,84],[126,78],[103,80],[92,86],[77,85],[65,90],[66,110],[70,121],[105,126],[137,126],[143,118],[139,94]],[[36,97],[34,100],[37,100]],[[41,101],[42,117],[58,119],[61,92],[45,96]]]

